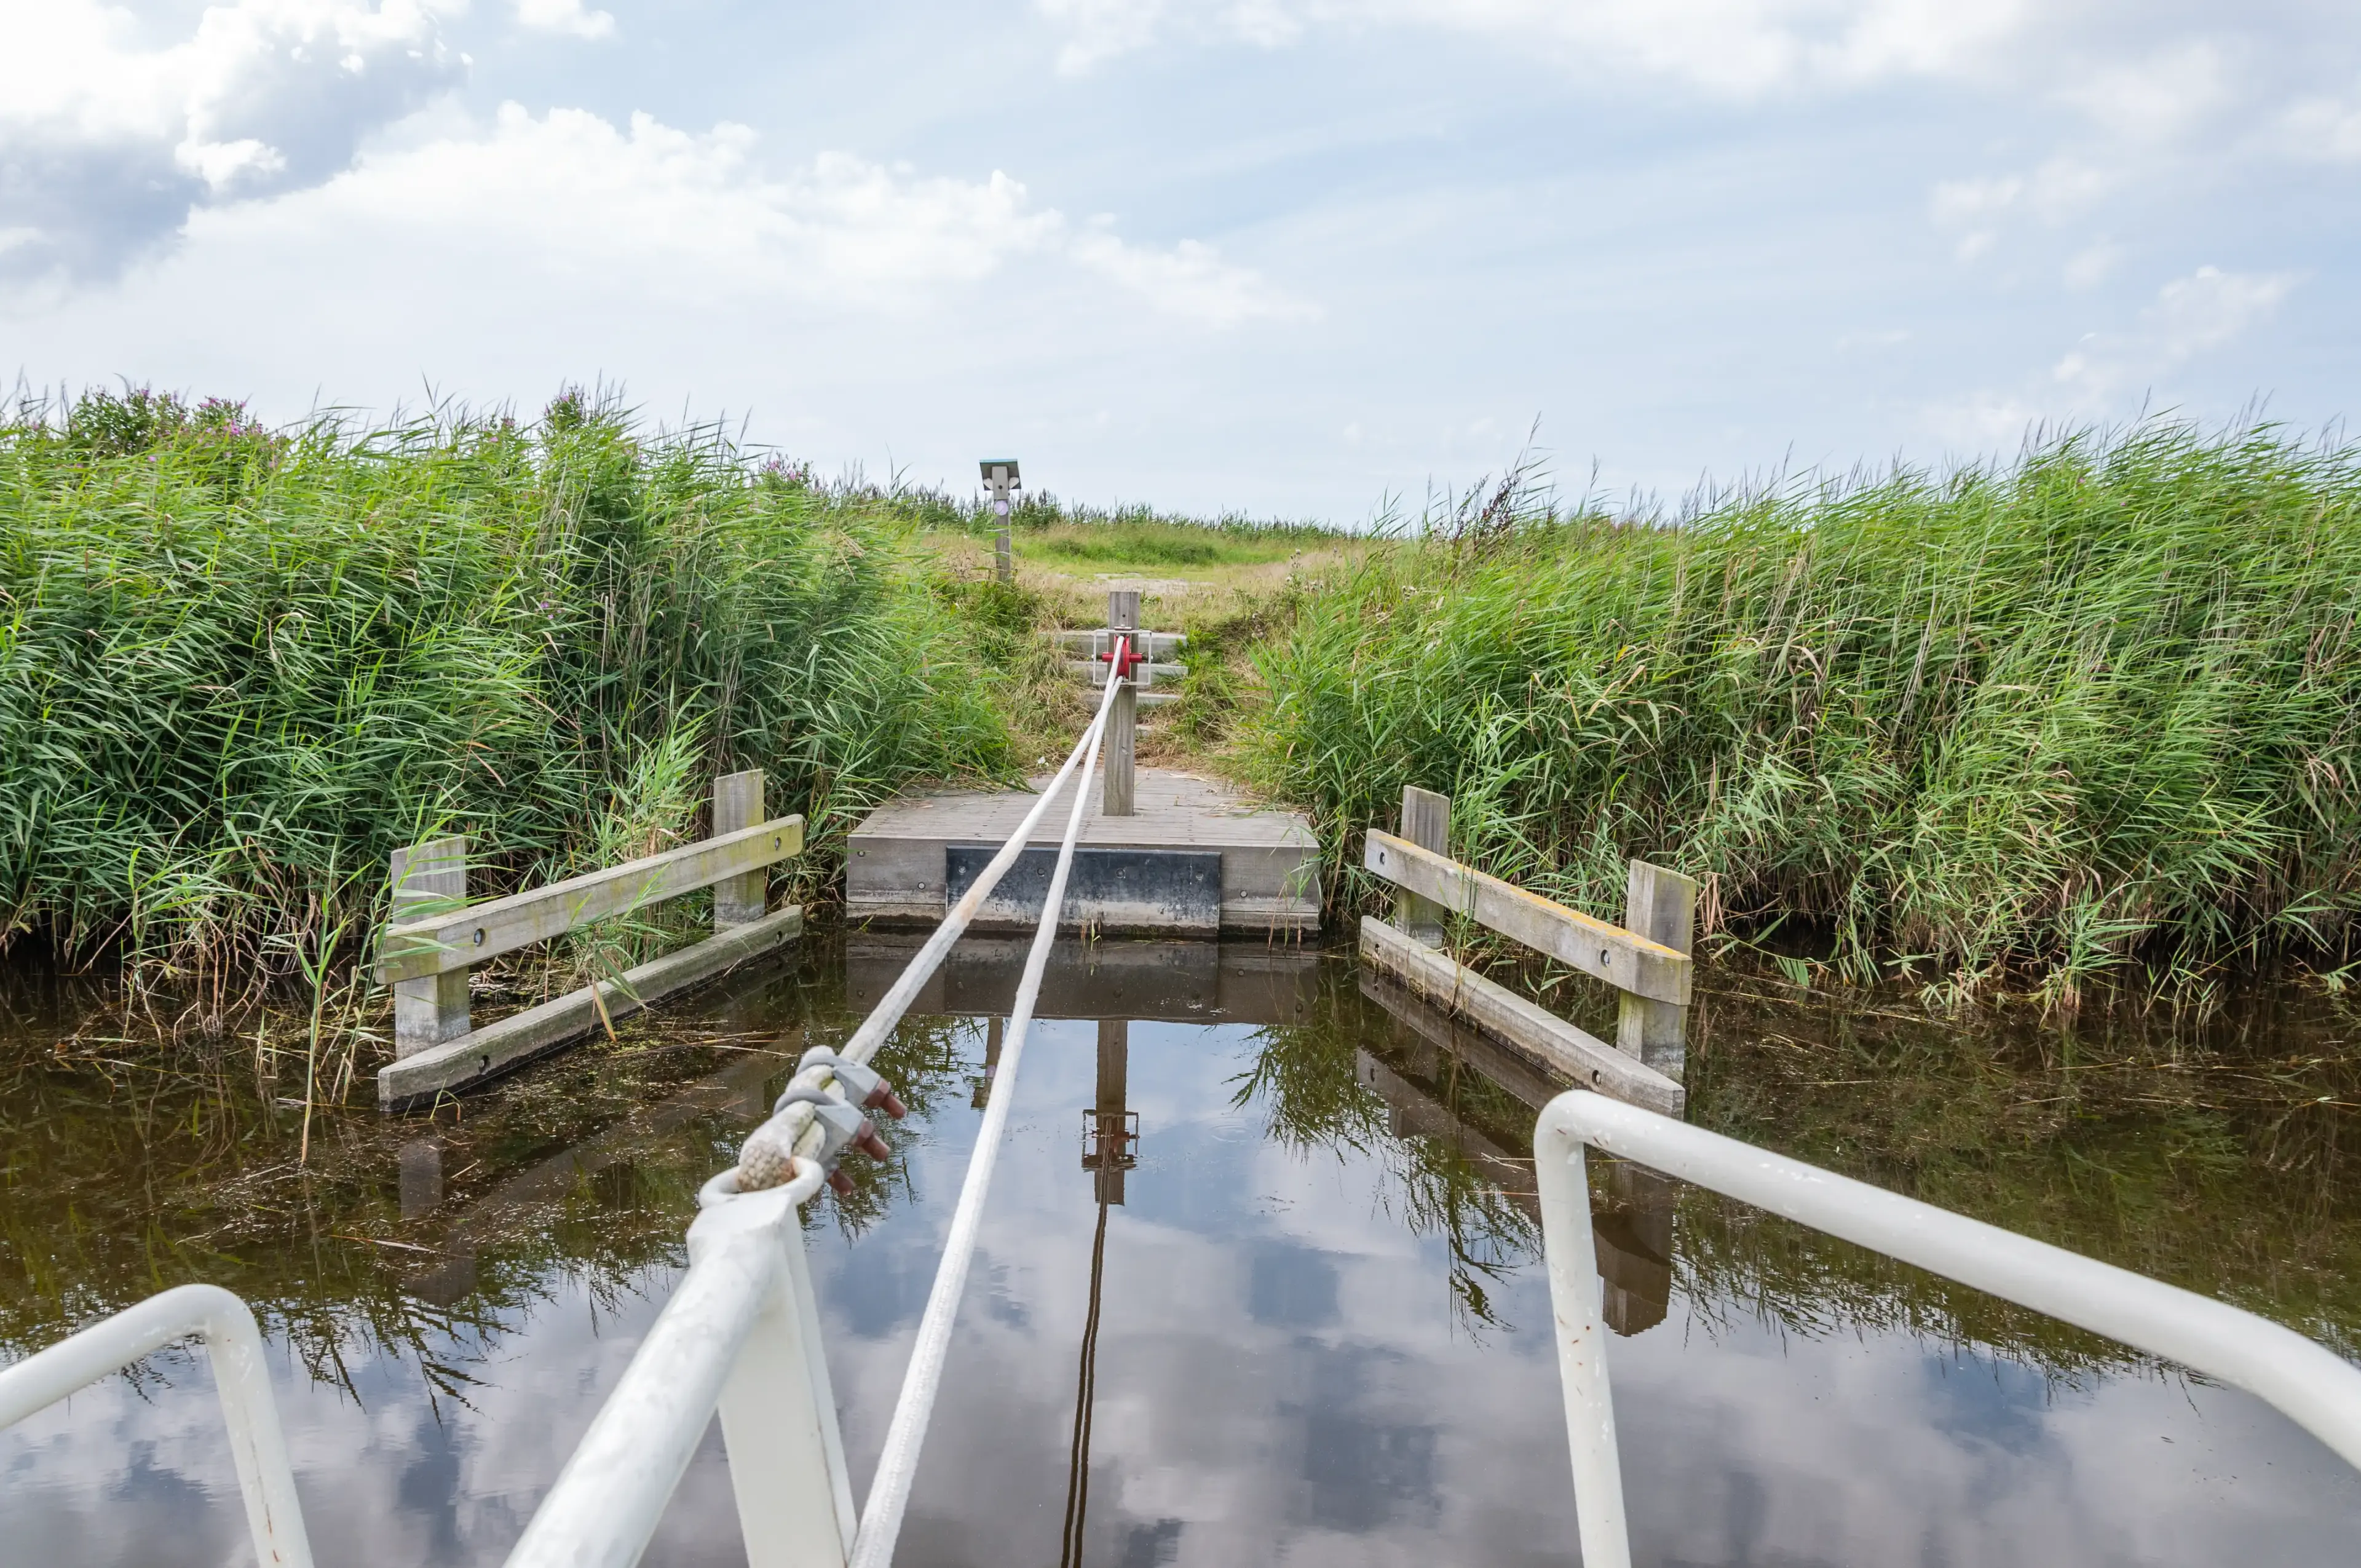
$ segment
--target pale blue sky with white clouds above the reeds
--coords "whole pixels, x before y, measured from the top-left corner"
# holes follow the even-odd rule
[[[2352,409],[2361,7],[0,0],[0,375],[1355,524]]]

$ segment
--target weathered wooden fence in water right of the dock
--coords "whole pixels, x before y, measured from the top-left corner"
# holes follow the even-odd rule
[[[1405,789],[1402,834],[1369,829],[1365,864],[1400,893],[1395,923],[1362,919],[1360,956],[1584,1089],[1681,1115],[1698,883],[1634,860],[1624,923],[1610,926],[1450,860],[1450,812],[1445,796]],[[1440,952],[1450,916],[1471,919],[1622,992],[1615,1044]]]

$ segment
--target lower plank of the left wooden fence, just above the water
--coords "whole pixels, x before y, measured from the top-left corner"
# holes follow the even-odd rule
[[[800,933],[803,909],[789,904],[751,926],[732,926],[715,937],[628,968],[616,980],[600,980],[597,1001],[590,999],[590,987],[583,987],[510,1013],[501,1023],[489,1023],[475,1034],[460,1034],[432,1051],[404,1056],[378,1070],[378,1108],[432,1105],[439,1096],[463,1093],[503,1072],[515,1072],[524,1063],[597,1030],[602,1004],[609,1018],[635,1013],[661,997],[791,942]]]

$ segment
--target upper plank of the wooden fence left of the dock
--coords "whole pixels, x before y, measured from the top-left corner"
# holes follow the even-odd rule
[[[720,834],[663,855],[630,860],[571,881],[512,893],[456,914],[390,926],[378,942],[378,982],[418,980],[534,942],[576,926],[708,888],[803,852],[803,817],[777,817],[739,834]]]

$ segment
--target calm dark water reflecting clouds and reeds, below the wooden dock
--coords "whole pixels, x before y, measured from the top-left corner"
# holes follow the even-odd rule
[[[302,1169],[286,1074],[236,1039],[165,1056],[83,1020],[59,1051],[78,999],[31,997],[0,1079],[0,1346],[220,1280],[264,1315],[319,1559],[498,1563],[671,1292],[696,1183],[902,952],[817,940],[456,1124],[323,1117]],[[933,987],[890,1048],[895,1162],[812,1209],[857,1490],[1013,952]],[[900,1561],[1060,1563],[1077,1511],[1107,1568],[1575,1561],[1546,1082],[1339,954],[1110,945],[1046,1006]],[[1721,975],[1698,1023],[1700,1122],[2356,1344],[2335,999],[1967,1027]],[[1129,1169],[1103,1129],[1136,1131]],[[1598,1169],[1594,1204],[1643,1563],[2354,1559],[2361,1483],[2245,1396],[1648,1171]],[[201,1358],[0,1433],[0,1542],[246,1561]],[[741,1561],[718,1433],[647,1561]]]

